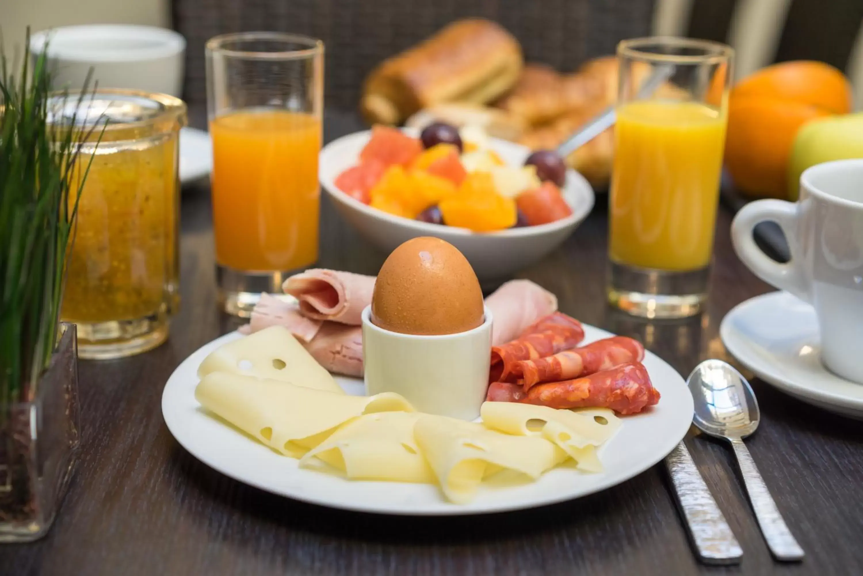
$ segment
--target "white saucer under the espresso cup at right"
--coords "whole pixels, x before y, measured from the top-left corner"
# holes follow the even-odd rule
[[[863,384],[823,366],[809,304],[787,292],[762,294],[734,307],[719,333],[728,352],[765,382],[813,406],[863,420]]]

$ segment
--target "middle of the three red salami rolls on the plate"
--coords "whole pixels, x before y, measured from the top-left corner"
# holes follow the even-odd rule
[[[536,383],[571,380],[644,358],[645,348],[638,340],[614,336],[545,358],[520,360],[513,364],[513,377],[528,390]]]

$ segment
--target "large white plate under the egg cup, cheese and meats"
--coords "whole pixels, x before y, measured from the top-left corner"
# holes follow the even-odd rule
[[[586,341],[610,333],[584,326]],[[603,446],[601,474],[555,469],[537,482],[516,487],[483,486],[468,504],[447,503],[430,484],[358,482],[301,469],[297,460],[280,456],[207,415],[194,397],[198,364],[236,332],[204,345],[186,358],[168,378],[162,393],[162,415],[173,437],[193,456],[218,472],[261,490],[343,510],[412,516],[452,516],[534,508],[601,491],[633,478],[671,452],[690,427],[692,396],[683,378],[650,352],[644,364],[662,394],[658,405],[641,415],[624,416],[623,426]],[[362,395],[362,381],[337,378],[349,394]]]

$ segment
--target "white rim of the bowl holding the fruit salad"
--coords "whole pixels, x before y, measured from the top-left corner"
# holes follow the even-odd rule
[[[412,136],[417,136],[418,134],[417,130],[410,128],[406,128],[402,131]],[[387,222],[398,225],[406,225],[415,228],[417,231],[427,231],[429,233],[440,234],[442,233],[441,228],[443,227],[446,233],[463,237],[534,236],[546,232],[561,231],[570,226],[579,224],[585,217],[587,217],[587,215],[593,209],[596,201],[595,191],[593,187],[590,186],[588,180],[585,179],[582,174],[577,173],[572,168],[566,168],[566,184],[562,189],[562,193],[564,195],[564,200],[572,209],[572,213],[566,218],[560,218],[559,220],[555,220],[554,222],[550,222],[548,224],[523,226],[520,228],[507,228],[507,230],[499,230],[493,232],[474,232],[468,230],[467,228],[460,228],[457,226],[441,226],[438,224],[421,222],[419,220],[412,220],[411,218],[402,218],[400,216],[395,216],[394,214],[388,214],[387,212],[383,212],[381,210],[363,204],[360,200],[350,196],[350,194],[342,192],[336,186],[336,178],[338,175],[337,170],[324,171],[324,167],[328,166],[331,163],[332,156],[342,156],[343,153],[341,152],[340,148],[356,147],[357,149],[359,149],[360,142],[362,142],[363,140],[368,141],[370,136],[371,130],[358,130],[356,132],[340,136],[332,142],[328,142],[324,146],[324,148],[321,149],[320,166],[318,168],[318,180],[320,180],[321,186],[324,187],[326,193],[328,193],[331,197],[333,197],[333,199],[336,199],[338,202],[350,206],[352,209],[362,212],[367,216],[373,218],[381,218],[383,220],[386,220]],[[491,142],[492,149],[509,149],[513,155],[519,154],[526,156],[530,153],[530,149],[516,142],[507,142],[506,140],[501,140],[500,138],[494,138],[492,136],[488,137],[488,142]],[[349,164],[348,166],[350,165],[352,164]]]

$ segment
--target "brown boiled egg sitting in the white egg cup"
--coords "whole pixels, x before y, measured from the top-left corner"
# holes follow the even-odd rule
[[[482,289],[467,258],[452,244],[416,237],[381,266],[371,320],[402,334],[467,332],[482,325]]]

